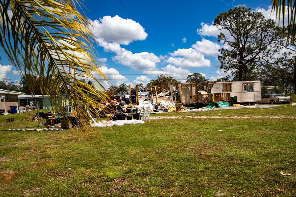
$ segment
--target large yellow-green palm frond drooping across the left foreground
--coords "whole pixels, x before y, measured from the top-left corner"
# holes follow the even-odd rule
[[[81,119],[90,117],[83,107],[102,107],[93,98],[108,97],[101,81],[106,80],[94,54],[89,22],[70,0],[3,0],[0,1],[0,45],[7,57],[24,75],[42,78],[42,95],[50,95],[55,111],[62,90]],[[95,85],[76,78],[85,78]],[[30,90],[34,94],[34,89]],[[62,97],[65,102],[65,98]],[[80,99],[77,99],[80,98]],[[69,121],[69,119],[66,119]],[[88,138],[88,131],[84,130]]]

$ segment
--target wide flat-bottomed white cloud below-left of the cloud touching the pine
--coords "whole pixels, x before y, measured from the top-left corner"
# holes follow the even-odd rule
[[[178,49],[174,53],[170,53],[172,57],[167,59],[167,62],[184,68],[193,67],[209,67],[211,61],[204,58],[204,55],[197,52],[196,50],[189,49]],[[176,57],[183,56],[183,57]]]

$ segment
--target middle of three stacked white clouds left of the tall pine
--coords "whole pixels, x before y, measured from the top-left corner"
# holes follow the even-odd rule
[[[197,41],[196,44],[193,44],[191,47],[203,55],[219,55],[220,54],[219,53],[220,45],[204,38],[201,41]]]

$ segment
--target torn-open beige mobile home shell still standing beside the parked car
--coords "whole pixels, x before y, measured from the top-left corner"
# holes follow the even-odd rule
[[[170,89],[175,103],[183,105],[261,101],[260,81],[178,83],[170,86]]]

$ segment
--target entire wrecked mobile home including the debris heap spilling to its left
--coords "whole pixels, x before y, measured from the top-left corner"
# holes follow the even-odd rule
[[[127,97],[132,103],[122,101]],[[261,85],[260,81],[177,83],[171,85],[170,90],[157,86],[142,89],[130,86],[129,93],[122,92],[120,97],[117,95],[117,101],[120,102],[112,101],[110,104],[117,106],[111,109],[118,113],[135,113],[136,110],[139,113],[185,111],[207,105],[207,108],[213,108],[215,103],[218,107],[230,107],[237,103],[260,102]]]

